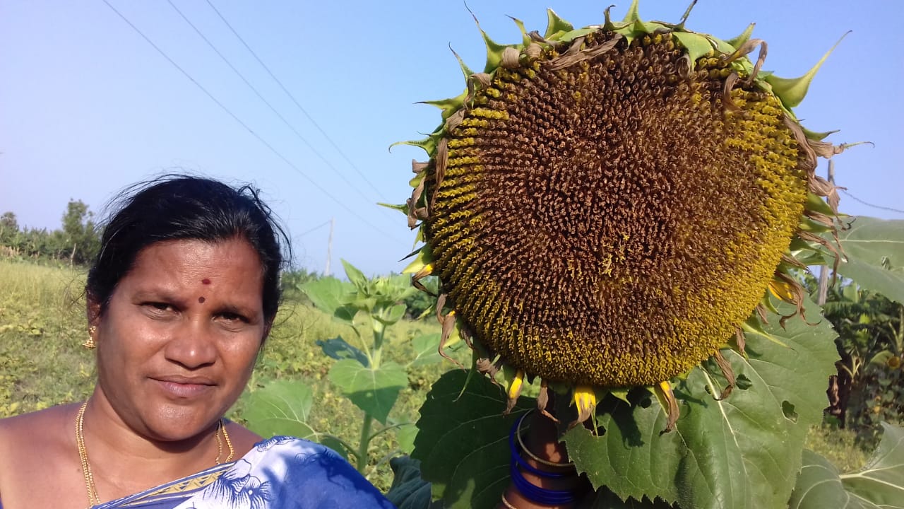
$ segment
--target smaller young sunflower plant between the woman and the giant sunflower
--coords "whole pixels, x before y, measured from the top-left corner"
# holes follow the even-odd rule
[[[342,263],[348,281],[320,277],[300,284],[299,290],[317,309],[352,331],[346,338],[338,335],[315,344],[335,360],[329,370],[330,382],[362,411],[357,442],[316,430],[307,422],[314,396],[305,380],[275,380],[251,392],[245,399],[244,417],[261,436],[316,440],[346,456],[362,473],[372,474],[393,456],[410,452],[415,427],[407,419],[398,419],[392,410],[400,392],[409,386],[408,370],[437,362],[439,357],[427,346],[432,335],[411,338],[410,345],[390,341],[392,326],[406,312],[403,301],[416,292],[406,276],[368,278],[353,264]],[[415,353],[409,362],[403,365],[387,358],[389,352],[405,346]],[[378,438],[387,434],[396,438],[399,447],[384,451],[374,464],[370,451]]]

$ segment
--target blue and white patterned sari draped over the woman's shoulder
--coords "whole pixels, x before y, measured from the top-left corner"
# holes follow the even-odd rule
[[[0,509],[2,509],[0,504]],[[259,442],[233,463],[93,509],[308,509],[393,505],[333,450],[295,437]]]

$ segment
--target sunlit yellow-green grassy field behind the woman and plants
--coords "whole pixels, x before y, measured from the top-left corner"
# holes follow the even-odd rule
[[[93,353],[81,347],[87,334],[83,284],[84,274],[77,270],[0,260],[0,418],[88,397],[94,363]],[[389,330],[386,355],[404,364],[414,355],[411,338],[438,331],[434,320],[400,322]],[[352,338],[353,332],[308,304],[287,302],[247,390],[259,389],[273,379],[306,380],[315,400],[308,423],[357,444],[363,414],[326,378],[334,360],[315,345],[316,340],[337,335]],[[468,355],[459,354],[463,360]],[[448,362],[410,369],[409,387],[401,392],[391,420],[416,420],[430,384],[451,369],[456,368]],[[240,400],[230,417],[241,421],[242,407]],[[374,440],[371,465],[395,447],[392,432]],[[854,444],[852,433],[827,427],[813,430],[808,447],[843,471],[861,466],[866,457]],[[367,474],[383,490],[391,484],[385,463]]]

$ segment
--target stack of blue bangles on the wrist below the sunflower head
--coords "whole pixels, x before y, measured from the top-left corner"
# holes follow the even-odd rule
[[[533,475],[537,475],[541,478],[546,479],[563,479],[568,477],[575,477],[574,463],[552,463],[551,461],[542,459],[534,455],[530,449],[524,446],[524,442],[521,437],[521,425],[524,421],[524,418],[528,416],[531,412],[525,413],[521,418],[515,421],[512,431],[509,433],[509,449],[512,451],[512,460],[509,464],[509,470],[512,475],[512,484],[524,498],[536,503],[543,505],[564,505],[564,504],[572,504],[578,499],[578,493],[574,490],[553,490],[542,488],[538,485],[534,485],[524,478],[523,472],[530,472]],[[546,471],[536,468],[535,466],[530,465],[527,461],[524,460],[522,454],[530,457],[533,461],[537,462],[543,466],[551,466],[559,469],[567,469],[562,471]],[[510,509],[515,509],[512,504],[509,503],[508,500],[505,499],[505,495],[503,494],[503,505]]]

